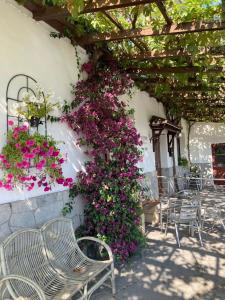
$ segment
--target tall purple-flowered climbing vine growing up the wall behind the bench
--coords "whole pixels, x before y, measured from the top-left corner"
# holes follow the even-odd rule
[[[90,160],[86,171],[80,171],[71,196],[84,194],[87,200],[86,228],[108,242],[114,254],[125,260],[143,242],[139,229],[139,203],[142,144],[120,95],[128,92],[133,82],[115,68],[95,70],[83,65],[87,80],[74,86],[74,100],[63,120],[79,136],[78,143],[88,148]],[[68,109],[68,107],[67,107]],[[64,213],[72,209],[71,203]]]

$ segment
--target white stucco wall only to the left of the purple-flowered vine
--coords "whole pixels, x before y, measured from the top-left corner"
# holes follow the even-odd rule
[[[53,31],[44,22],[36,22],[29,11],[14,1],[0,1],[0,148],[6,141],[6,87],[10,78],[23,73],[35,78],[46,91],[53,91],[56,98],[71,99],[71,83],[77,81],[75,50],[68,39],[53,39]],[[78,48],[81,62],[87,60],[85,51]],[[64,165],[65,176],[75,177],[85,156],[76,146],[72,132],[64,124],[48,124],[48,133],[63,141],[62,151],[68,154]],[[63,188],[56,186],[53,191]],[[53,192],[52,191],[52,192]],[[43,193],[0,190],[0,203],[37,196]]]

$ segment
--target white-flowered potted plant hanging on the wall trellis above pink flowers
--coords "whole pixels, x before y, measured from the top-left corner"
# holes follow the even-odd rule
[[[22,103],[17,109],[19,117],[29,122],[31,127],[37,127],[43,124],[43,119],[49,115],[59,103],[51,103],[52,95],[44,92],[37,87],[36,93],[24,93]]]

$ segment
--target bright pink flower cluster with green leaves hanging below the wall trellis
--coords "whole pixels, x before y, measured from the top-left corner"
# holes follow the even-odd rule
[[[0,187],[11,191],[22,184],[31,191],[37,185],[47,192],[54,183],[72,185],[72,178],[63,177],[65,159],[52,138],[30,134],[28,126],[15,127],[13,121],[9,121],[9,126],[7,144],[0,154],[0,169],[4,173]]]

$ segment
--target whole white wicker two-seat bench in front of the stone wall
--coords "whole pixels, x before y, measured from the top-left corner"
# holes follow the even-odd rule
[[[13,233],[0,248],[3,274],[0,277],[0,299],[7,299],[2,296],[7,290],[16,300],[66,300],[78,292],[78,299],[86,300],[109,277],[115,293],[112,252],[98,239],[91,239],[107,249],[107,262],[90,260],[82,253],[72,222],[64,218],[47,223],[41,230],[26,229]],[[97,283],[88,289],[89,282],[107,268],[110,268],[107,276],[99,275]]]

